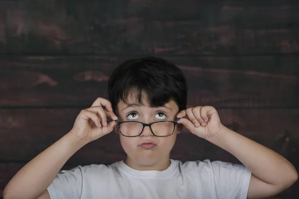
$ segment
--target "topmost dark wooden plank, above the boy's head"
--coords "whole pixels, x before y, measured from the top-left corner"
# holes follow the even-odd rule
[[[1,0],[0,53],[298,53],[298,10],[277,0]]]

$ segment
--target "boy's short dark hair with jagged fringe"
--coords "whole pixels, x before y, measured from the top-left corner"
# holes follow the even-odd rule
[[[188,88],[182,71],[174,64],[156,57],[130,59],[120,64],[108,82],[108,95],[112,108],[127,103],[130,94],[136,95],[144,105],[142,92],[147,93],[151,107],[163,106],[174,100],[179,111],[186,108]]]

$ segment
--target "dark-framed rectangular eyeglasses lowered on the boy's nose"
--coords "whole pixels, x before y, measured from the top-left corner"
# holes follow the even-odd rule
[[[149,126],[153,135],[158,137],[170,136],[174,132],[174,127],[177,124],[177,118],[175,121],[156,121],[149,124],[145,124],[139,121],[118,121],[117,125],[120,128],[120,132],[126,137],[140,136],[146,126]]]

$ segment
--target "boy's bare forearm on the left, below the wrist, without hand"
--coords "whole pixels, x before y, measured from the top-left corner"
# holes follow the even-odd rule
[[[84,143],[71,132],[28,162],[6,185],[7,199],[36,199],[53,182],[66,161]]]

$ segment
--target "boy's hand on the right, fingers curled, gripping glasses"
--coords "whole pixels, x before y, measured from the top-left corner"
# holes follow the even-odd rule
[[[191,133],[204,139],[217,135],[224,127],[217,110],[213,106],[187,108],[177,114],[178,123],[183,124]]]

